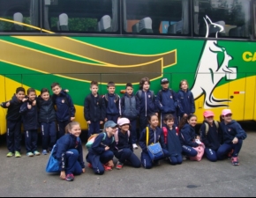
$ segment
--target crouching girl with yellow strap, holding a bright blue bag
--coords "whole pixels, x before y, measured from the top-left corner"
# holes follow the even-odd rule
[[[163,141],[163,134],[162,129],[158,128],[158,116],[156,114],[150,114],[147,116],[147,121],[149,123],[148,126],[148,143],[147,143],[147,128],[145,128],[139,137],[139,145],[142,150],[141,152],[141,163],[144,168],[150,169],[153,166],[153,162],[151,158],[149,157],[148,151],[147,151],[147,145],[150,145],[152,143],[159,142],[162,147],[162,151],[164,154],[163,158],[169,158],[169,151],[166,150],[166,145]],[[154,161],[155,165],[160,165],[159,161]]]

